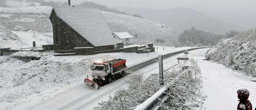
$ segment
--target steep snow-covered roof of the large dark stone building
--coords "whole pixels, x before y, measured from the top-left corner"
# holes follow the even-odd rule
[[[117,44],[99,9],[85,7],[54,7],[59,18],[94,46]]]

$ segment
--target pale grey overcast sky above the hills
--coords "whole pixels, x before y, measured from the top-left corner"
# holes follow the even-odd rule
[[[78,4],[83,1],[92,1],[112,8],[170,9],[188,7],[224,21],[238,23],[241,20],[247,21],[248,25],[251,24],[250,27],[253,26],[252,24],[256,26],[256,0],[71,0],[71,3]]]

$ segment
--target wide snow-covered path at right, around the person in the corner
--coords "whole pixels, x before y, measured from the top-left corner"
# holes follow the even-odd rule
[[[249,100],[256,107],[256,82],[252,78],[233,71],[221,64],[203,60],[198,57],[197,63],[201,68],[203,89],[206,98],[206,110],[237,110],[237,90],[247,88],[250,91]]]

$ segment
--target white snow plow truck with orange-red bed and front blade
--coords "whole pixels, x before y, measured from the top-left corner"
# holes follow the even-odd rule
[[[109,61],[96,61],[91,65],[91,78],[85,78],[84,83],[99,86],[113,82],[125,75],[127,66],[126,59],[113,59]]]

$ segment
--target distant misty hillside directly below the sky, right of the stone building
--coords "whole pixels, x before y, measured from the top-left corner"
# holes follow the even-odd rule
[[[232,29],[240,29],[238,26],[216,19],[215,16],[209,16],[207,13],[204,14],[187,7],[171,9],[120,8],[128,13],[138,13],[146,19],[171,26],[179,34],[191,27],[221,35]]]

